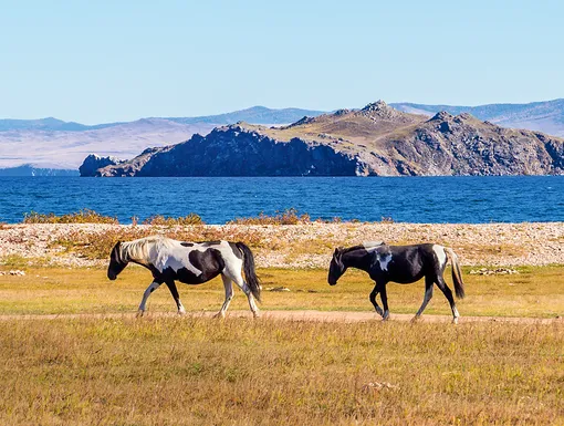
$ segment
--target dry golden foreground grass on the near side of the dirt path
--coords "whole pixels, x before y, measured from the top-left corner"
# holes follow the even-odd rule
[[[558,323],[1,321],[0,424],[555,425],[563,332]]]

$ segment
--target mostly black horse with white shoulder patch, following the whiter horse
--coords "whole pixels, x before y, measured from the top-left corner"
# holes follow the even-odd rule
[[[370,302],[383,321],[386,321],[389,318],[386,284],[389,281],[408,284],[425,277],[425,299],[411,321],[416,321],[422,314],[432,298],[432,284],[436,283],[449,301],[452,322],[457,324],[460,314],[452,298],[452,291],[442,278],[448,260],[452,266],[452,281],[457,298],[462,299],[464,283],[457,254],[448,247],[434,243],[388,246],[385,242],[365,242],[349,248],[336,248],[331,260],[327,282],[330,285],[335,285],[347,268],[368,272],[375,282],[369,297]],[[378,293],[384,310],[376,302]]]

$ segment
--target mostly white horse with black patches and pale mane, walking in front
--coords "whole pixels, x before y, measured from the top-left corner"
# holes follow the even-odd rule
[[[153,273],[153,282],[143,294],[138,315],[145,312],[145,303],[150,293],[163,283],[170,290],[178,313],[185,313],[175,280],[187,284],[201,284],[219,274],[223,280],[226,300],[216,316],[226,315],[233,298],[233,281],[247,294],[253,315],[259,315],[254,299],[260,301],[261,285],[254,271],[254,257],[242,242],[185,242],[161,236],[119,241],[112,249],[107,278],[115,280],[129,262],[138,263]],[[243,280],[241,269],[244,270],[247,281]]]

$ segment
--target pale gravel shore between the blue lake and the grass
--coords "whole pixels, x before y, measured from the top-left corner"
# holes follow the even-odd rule
[[[132,228],[127,225],[2,225],[0,226],[0,263],[13,257],[45,264],[87,267],[106,264],[65,252],[56,241],[73,232],[103,235]],[[170,228],[150,228],[154,233],[167,233]],[[326,268],[333,248],[364,241],[387,243],[435,242],[449,246],[463,266],[546,266],[564,263],[564,222],[537,224],[321,224],[288,226],[200,226],[212,228],[222,238],[252,233],[260,241],[251,247],[261,268]],[[147,229],[148,230],[148,229]],[[203,232],[202,232],[203,233]]]

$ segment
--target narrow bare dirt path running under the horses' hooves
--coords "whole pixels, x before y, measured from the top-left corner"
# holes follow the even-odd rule
[[[212,318],[215,312],[188,312],[188,318]],[[0,315],[0,321],[9,320],[58,320],[58,319],[133,319],[135,313],[70,313],[70,314],[44,314],[44,315]],[[179,318],[171,312],[147,312],[143,318]],[[248,311],[230,311],[228,318],[251,319]],[[380,316],[373,312],[325,312],[325,311],[263,311],[262,319],[276,321],[310,321],[310,322],[379,322]],[[390,321],[411,321],[414,315],[395,313],[390,315]],[[450,323],[450,315],[424,315],[418,322],[425,323]],[[511,318],[511,316],[461,316],[459,324],[473,322],[498,322],[498,323],[519,323],[519,324],[564,324],[564,318]]]

